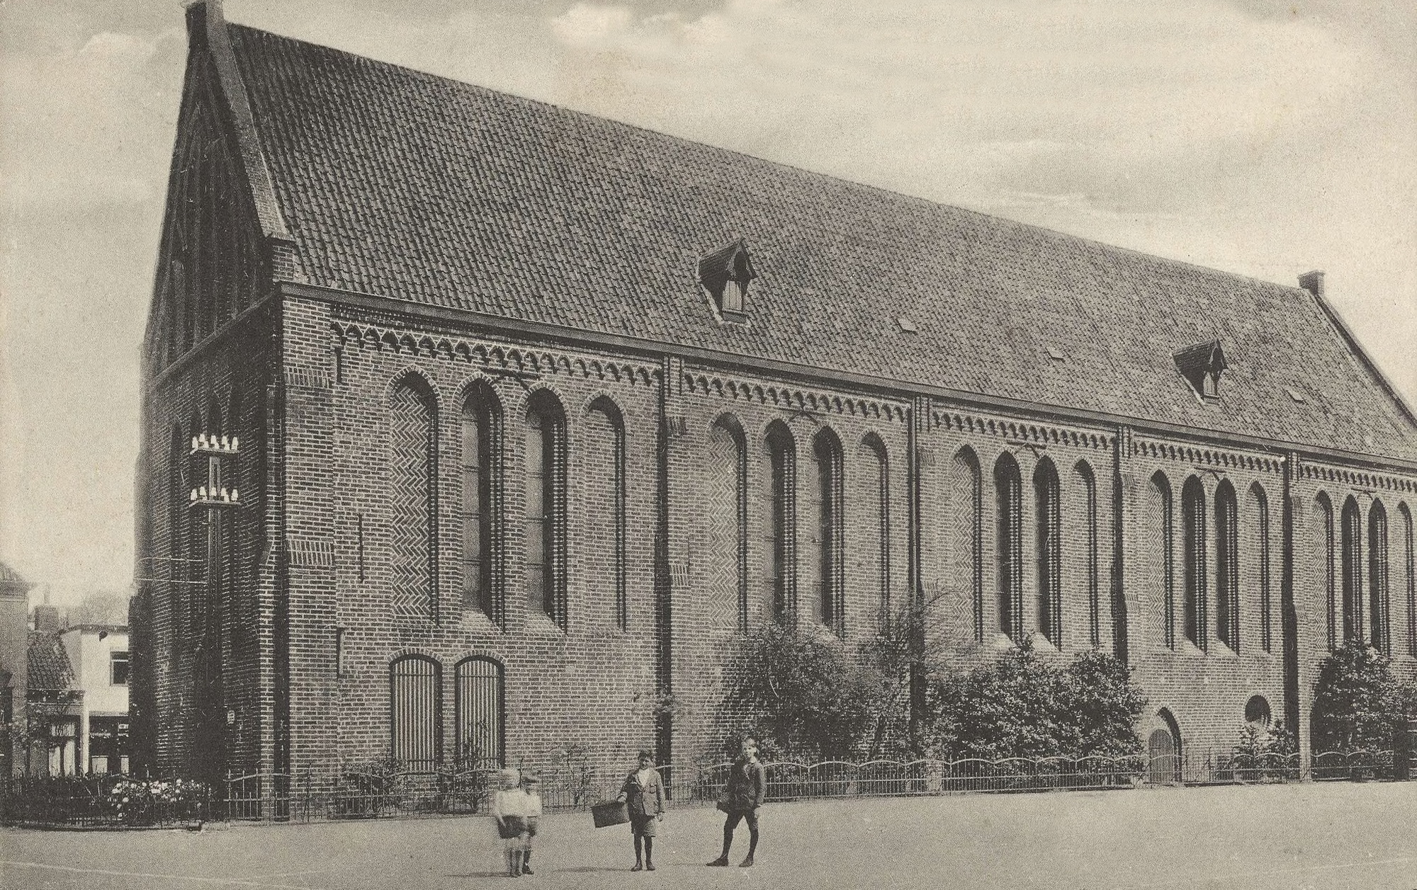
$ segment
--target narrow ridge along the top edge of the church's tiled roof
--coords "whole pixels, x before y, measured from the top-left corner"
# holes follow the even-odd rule
[[[781,162],[781,160],[772,160],[771,157],[761,157],[758,154],[751,154],[748,152],[741,152],[738,149],[728,149],[728,147],[717,146],[717,145],[713,145],[713,143],[708,143],[708,142],[699,142],[696,139],[689,139],[687,136],[676,136],[673,133],[666,133],[663,130],[650,129],[648,126],[640,126],[638,123],[629,123],[626,120],[619,120],[616,118],[606,118],[604,115],[597,115],[597,113],[592,113],[592,112],[580,111],[580,109],[575,109],[575,108],[570,108],[567,105],[557,105],[555,102],[547,102],[544,99],[534,99],[531,96],[524,96],[521,94],[510,92],[510,91],[506,91],[506,89],[493,89],[492,86],[483,86],[482,84],[473,84],[470,81],[459,81],[458,78],[452,78],[452,77],[448,77],[448,75],[444,75],[444,74],[435,74],[432,71],[424,71],[422,68],[414,68],[411,65],[402,65],[400,62],[388,62],[388,61],[373,58],[373,57],[368,57],[368,55],[360,55],[359,52],[353,52],[350,50],[340,50],[339,47],[330,47],[327,44],[319,44],[319,43],[315,43],[315,41],[310,41],[310,40],[302,40],[299,37],[289,37],[286,34],[276,34],[275,31],[266,31],[265,28],[256,28],[256,27],[252,27],[252,26],[248,26],[248,24],[239,24],[239,23],[235,23],[235,21],[227,21],[227,27],[228,28],[239,28],[239,30],[244,30],[244,31],[251,31],[254,34],[262,34],[265,37],[273,37],[276,40],[283,40],[283,41],[289,41],[289,43],[305,44],[307,47],[316,47],[319,50],[324,50],[327,52],[337,52],[340,55],[344,55],[344,57],[357,60],[360,62],[366,62],[366,64],[384,65],[387,68],[397,68],[398,71],[405,71],[405,72],[417,75],[417,77],[431,78],[434,81],[439,81],[439,82],[444,82],[444,84],[451,84],[453,86],[459,86],[459,88],[463,88],[463,89],[475,89],[475,91],[480,91],[480,92],[485,92],[485,94],[495,94],[495,95],[499,95],[499,96],[507,96],[510,99],[516,99],[517,102],[526,102],[526,103],[537,105],[537,106],[541,106],[541,108],[555,109],[558,112],[567,112],[567,113],[571,113],[571,115],[591,118],[594,120],[602,120],[602,122],[606,122],[606,123],[612,123],[615,126],[625,128],[628,130],[636,130],[636,132],[640,132],[640,133],[648,133],[648,135],[655,136],[657,139],[670,139],[670,140],[674,140],[674,142],[683,142],[683,143],[689,143],[689,145],[693,145],[693,146],[710,149],[710,150],[714,150],[714,152],[724,152],[724,153],[731,154],[734,157],[751,159],[751,160],[758,162],[758,163],[771,164],[774,167],[781,167],[781,169],[785,169],[785,170],[792,170],[795,173],[806,174],[808,177],[829,180],[832,183],[840,183],[840,184],[852,186],[852,187],[856,187],[856,188],[869,188],[871,191],[876,191],[876,193],[880,193],[880,194],[884,194],[884,196],[890,196],[890,197],[894,197],[894,198],[905,198],[908,201],[915,201],[915,203],[920,203],[920,204],[922,204],[925,207],[931,207],[931,208],[952,210],[952,211],[956,211],[956,213],[964,213],[964,214],[969,214],[969,215],[973,215],[973,217],[979,217],[981,220],[992,221],[992,222],[996,222],[996,224],[998,222],[1003,222],[1003,224],[1007,224],[1007,225],[1019,225],[1019,227],[1023,227],[1023,228],[1027,228],[1027,230],[1032,230],[1032,231],[1046,232],[1049,235],[1054,235],[1054,237],[1064,238],[1064,240],[1068,240],[1068,241],[1074,241],[1074,242],[1078,242],[1078,244],[1094,245],[1094,247],[1102,248],[1105,251],[1121,251],[1121,252],[1131,254],[1131,255],[1135,255],[1135,257],[1142,257],[1142,258],[1151,259],[1151,261],[1161,261],[1161,262],[1166,262],[1166,264],[1175,264],[1175,265],[1186,266],[1186,268],[1190,268],[1190,269],[1202,269],[1202,271],[1209,272],[1212,275],[1220,275],[1220,276],[1226,276],[1226,278],[1234,278],[1234,279],[1238,279],[1238,281],[1248,281],[1248,282],[1253,282],[1253,283],[1265,285],[1268,288],[1280,288],[1280,289],[1287,291],[1287,292],[1301,292],[1301,293],[1305,293],[1305,295],[1308,293],[1306,291],[1304,291],[1302,288],[1299,288],[1297,285],[1285,285],[1285,283],[1281,283],[1281,282],[1268,281],[1268,279],[1264,279],[1264,278],[1257,278],[1254,275],[1243,275],[1240,272],[1230,272],[1230,271],[1226,271],[1226,269],[1217,269],[1214,266],[1202,265],[1199,262],[1192,262],[1189,259],[1178,259],[1175,257],[1162,257],[1161,254],[1148,254],[1146,251],[1139,249],[1139,248],[1131,248],[1131,247],[1125,247],[1125,245],[1119,245],[1119,244],[1111,244],[1108,241],[1101,241],[1098,238],[1090,238],[1087,235],[1078,235],[1076,232],[1063,231],[1060,228],[1051,228],[1051,227],[1047,227],[1047,225],[1040,225],[1037,222],[1024,222],[1022,220],[1015,220],[1012,217],[1003,217],[1003,215],[992,214],[992,213],[988,213],[988,211],[983,211],[983,210],[976,210],[973,207],[965,207],[965,205],[961,205],[961,204],[949,204],[949,203],[945,203],[945,201],[937,201],[934,198],[927,198],[924,196],[910,194],[908,191],[897,191],[894,188],[887,188],[886,186],[877,186],[877,184],[873,184],[873,183],[863,183],[863,181],[859,181],[859,180],[846,179],[846,177],[835,176],[835,174],[830,174],[830,173],[823,173],[820,170],[812,170],[812,169],[808,169],[808,167],[799,167],[796,164],[791,164],[791,163]]]

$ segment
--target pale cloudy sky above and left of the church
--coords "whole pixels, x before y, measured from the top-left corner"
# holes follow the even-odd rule
[[[1328,296],[1417,407],[1417,4],[227,0],[231,21]],[[133,577],[176,0],[0,0],[0,561]]]

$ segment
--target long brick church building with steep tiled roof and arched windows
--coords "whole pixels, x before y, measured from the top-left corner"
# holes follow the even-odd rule
[[[145,342],[133,720],[217,775],[717,751],[761,622],[1122,656],[1153,751],[1417,670],[1417,419],[1323,298],[228,24]],[[677,709],[663,707],[673,696]]]

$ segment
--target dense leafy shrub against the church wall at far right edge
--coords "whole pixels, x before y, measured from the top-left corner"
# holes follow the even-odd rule
[[[1400,682],[1373,646],[1348,642],[1319,663],[1314,689],[1314,751],[1386,750],[1417,716],[1417,686]]]

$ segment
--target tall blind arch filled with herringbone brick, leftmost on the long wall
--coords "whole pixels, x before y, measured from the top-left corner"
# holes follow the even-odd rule
[[[394,614],[438,618],[438,408],[410,374],[390,400]]]

